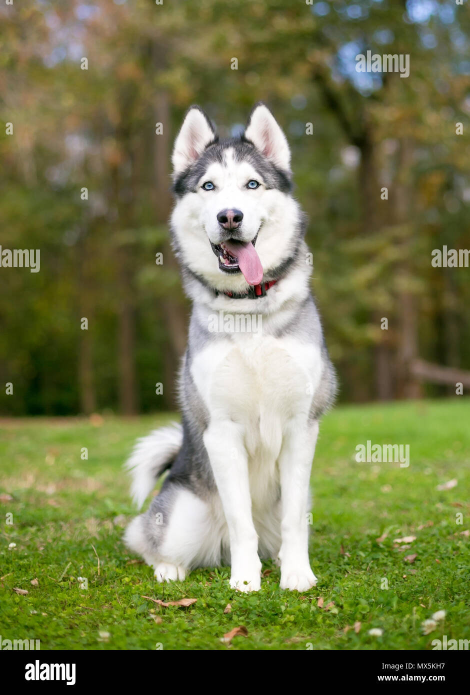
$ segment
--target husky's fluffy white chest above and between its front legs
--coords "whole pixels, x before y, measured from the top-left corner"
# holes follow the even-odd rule
[[[276,461],[287,423],[308,415],[321,354],[291,336],[231,334],[204,347],[191,373],[211,420],[238,423],[248,456],[261,466]]]

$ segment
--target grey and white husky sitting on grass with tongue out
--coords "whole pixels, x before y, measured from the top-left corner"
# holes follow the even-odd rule
[[[257,591],[260,557],[272,557],[282,589],[316,584],[309,479],[336,381],[311,297],[290,159],[264,104],[241,137],[227,140],[192,106],[175,141],[172,243],[193,301],[182,425],[140,440],[127,463],[140,507],[168,470],[125,534],[160,582],[226,563],[232,589]]]

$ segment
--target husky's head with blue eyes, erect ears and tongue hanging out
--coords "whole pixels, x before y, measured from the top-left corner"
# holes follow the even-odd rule
[[[243,292],[291,258],[300,211],[291,197],[291,153],[264,104],[239,138],[219,140],[192,106],[175,141],[172,231],[179,258],[206,284]]]

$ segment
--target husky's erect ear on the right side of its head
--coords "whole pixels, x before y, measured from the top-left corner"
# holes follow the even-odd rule
[[[291,151],[277,120],[268,107],[260,102],[251,112],[245,130],[245,138],[251,140],[277,167],[290,171]]]

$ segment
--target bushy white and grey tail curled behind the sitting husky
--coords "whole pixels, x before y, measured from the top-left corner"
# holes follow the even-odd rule
[[[139,509],[157,478],[175,461],[182,443],[183,428],[178,423],[138,439],[125,467],[131,473],[131,495]]]

